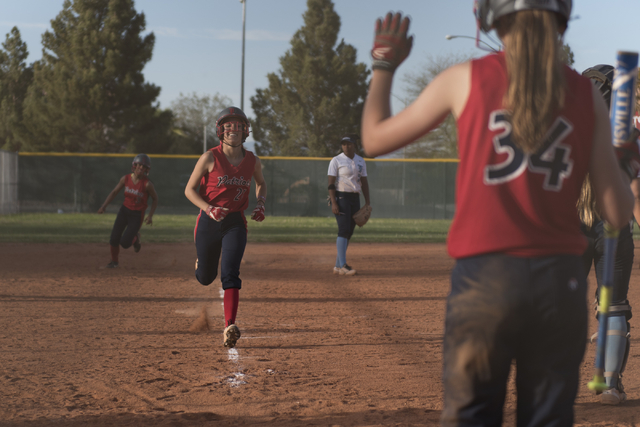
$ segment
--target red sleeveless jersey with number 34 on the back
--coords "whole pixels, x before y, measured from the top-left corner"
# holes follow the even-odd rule
[[[458,126],[460,164],[449,254],[536,257],[582,255],[576,202],[589,169],[593,141],[591,82],[565,67],[565,107],[535,154],[510,138],[502,100],[504,53],[471,63],[471,90]]]

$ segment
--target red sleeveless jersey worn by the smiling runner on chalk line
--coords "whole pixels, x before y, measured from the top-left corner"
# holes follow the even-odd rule
[[[210,205],[242,212],[249,206],[249,188],[256,166],[256,156],[245,150],[244,159],[236,167],[222,152],[222,144],[212,148],[214,166],[200,181],[200,196]]]

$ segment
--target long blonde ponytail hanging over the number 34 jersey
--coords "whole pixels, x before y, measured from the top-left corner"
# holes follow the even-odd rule
[[[533,153],[564,106],[558,16],[542,10],[511,13],[496,22],[496,30],[505,43],[509,88],[504,106],[511,118],[513,143]]]

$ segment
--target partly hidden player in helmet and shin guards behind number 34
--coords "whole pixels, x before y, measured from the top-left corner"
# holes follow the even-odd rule
[[[600,89],[605,103],[610,106],[614,68],[611,65],[596,65],[586,69],[582,75],[589,77],[595,86]],[[637,138],[637,134],[633,135]],[[637,175],[631,181],[631,189],[634,193],[634,216],[640,218],[640,180]],[[582,222],[582,231],[587,237],[588,248],[583,255],[585,273],[588,275],[593,264],[596,269],[598,290],[596,302],[599,301],[600,289],[604,284],[604,222],[593,198],[593,189],[589,177],[582,185],[580,198],[578,199],[578,214]],[[600,395],[600,401],[607,405],[617,405],[627,399],[622,386],[622,372],[629,357],[630,332],[629,319],[631,319],[631,304],[627,299],[629,280],[633,267],[633,223],[623,227],[618,235],[618,246],[613,266],[612,298],[609,306],[607,321],[607,344],[605,350],[605,382],[608,389]],[[597,307],[596,307],[597,308]],[[597,333],[592,337],[597,336]]]

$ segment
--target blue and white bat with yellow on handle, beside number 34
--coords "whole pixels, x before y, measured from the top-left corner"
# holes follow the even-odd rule
[[[613,76],[611,95],[611,131],[613,145],[622,145],[629,140],[633,129],[636,106],[636,81],[638,79],[638,53],[618,52]],[[613,269],[618,246],[618,230],[604,224],[604,268],[598,306],[598,341],[596,344],[595,373],[588,387],[601,393],[607,389],[604,380],[604,356],[607,345],[607,325],[613,286]]]

